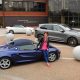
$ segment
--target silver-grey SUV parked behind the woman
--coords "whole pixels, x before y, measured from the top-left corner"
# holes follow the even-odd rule
[[[48,32],[50,41],[64,42],[70,46],[80,44],[80,32],[65,24],[40,24],[35,30],[35,37],[40,39],[45,31]]]

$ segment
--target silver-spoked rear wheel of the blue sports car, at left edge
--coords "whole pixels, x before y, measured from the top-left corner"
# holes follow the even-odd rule
[[[0,68],[8,69],[11,67],[11,60],[9,58],[1,58],[0,59]]]

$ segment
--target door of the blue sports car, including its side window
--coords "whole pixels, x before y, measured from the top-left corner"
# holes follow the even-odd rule
[[[20,46],[17,54],[21,62],[35,61],[41,58],[41,51],[36,50],[33,45]]]

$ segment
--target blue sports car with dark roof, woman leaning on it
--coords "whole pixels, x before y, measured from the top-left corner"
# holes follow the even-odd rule
[[[0,68],[10,68],[14,63],[44,60],[42,51],[36,45],[29,39],[17,39],[0,46]],[[59,57],[60,50],[49,46],[49,62],[58,60]]]

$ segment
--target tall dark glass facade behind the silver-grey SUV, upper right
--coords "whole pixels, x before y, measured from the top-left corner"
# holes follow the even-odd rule
[[[49,21],[80,27],[80,0],[49,0]]]

